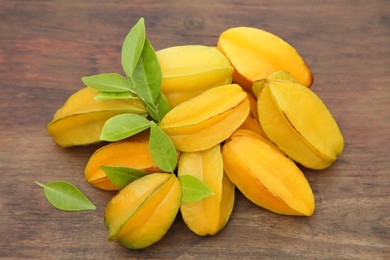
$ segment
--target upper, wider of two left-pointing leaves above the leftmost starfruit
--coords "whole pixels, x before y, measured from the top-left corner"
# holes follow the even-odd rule
[[[124,92],[130,90],[126,78],[118,73],[104,73],[82,77],[83,83],[91,88],[104,92]]]

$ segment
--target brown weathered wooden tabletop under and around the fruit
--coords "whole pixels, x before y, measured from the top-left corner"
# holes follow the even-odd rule
[[[120,72],[124,36],[139,17],[155,49],[216,45],[227,28],[271,31],[312,68],[345,150],[329,169],[304,169],[312,217],[281,216],[237,191],[218,235],[198,237],[177,217],[144,250],[107,241],[111,192],[83,171],[99,145],[62,149],[45,127],[80,78]],[[390,3],[386,0],[0,0],[0,258],[390,259]],[[34,181],[67,180],[96,211],[54,209]]]

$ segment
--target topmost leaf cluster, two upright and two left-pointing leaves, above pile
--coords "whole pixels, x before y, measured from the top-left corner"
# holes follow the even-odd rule
[[[122,45],[122,68],[118,73],[86,76],[81,80],[102,93],[95,99],[140,98],[149,115],[160,122],[169,111],[169,104],[161,92],[162,73],[152,44],[146,38],[145,22],[141,18],[127,34]]]

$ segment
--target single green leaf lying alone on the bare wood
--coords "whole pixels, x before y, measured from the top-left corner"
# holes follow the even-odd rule
[[[69,182],[53,181],[46,185],[35,183],[43,188],[47,200],[57,209],[66,211],[96,209],[87,196]]]

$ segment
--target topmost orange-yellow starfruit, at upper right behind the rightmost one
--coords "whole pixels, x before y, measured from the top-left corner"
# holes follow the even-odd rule
[[[269,32],[251,27],[231,28],[220,35],[217,48],[235,69],[233,82],[248,91],[253,82],[279,70],[289,72],[307,87],[313,82],[309,67],[295,48]]]

